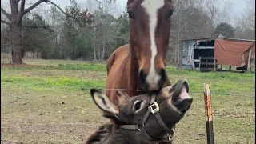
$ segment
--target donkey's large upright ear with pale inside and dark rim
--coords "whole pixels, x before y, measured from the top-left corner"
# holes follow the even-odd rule
[[[118,118],[117,107],[114,106],[110,99],[100,90],[91,89],[90,95],[94,100],[96,106],[102,110],[103,116],[106,118]]]

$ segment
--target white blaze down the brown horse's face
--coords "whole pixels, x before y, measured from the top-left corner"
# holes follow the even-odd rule
[[[150,24],[150,49],[151,49],[151,65],[150,72],[146,77],[146,81],[150,84],[157,85],[160,80],[160,76],[154,70],[154,58],[157,55],[157,46],[155,43],[154,35],[155,28],[158,23],[158,9],[165,5],[164,0],[144,0],[142,2],[142,7],[145,8],[146,13],[149,16]]]

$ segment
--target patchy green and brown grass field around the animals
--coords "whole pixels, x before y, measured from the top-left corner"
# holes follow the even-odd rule
[[[82,143],[107,122],[89,90],[104,88],[106,65],[24,60],[51,67],[1,69],[1,139],[25,143]],[[214,143],[255,143],[255,74],[200,73],[167,67],[172,83],[186,78],[194,102],[176,127],[174,144],[205,144],[202,84],[210,82]]]

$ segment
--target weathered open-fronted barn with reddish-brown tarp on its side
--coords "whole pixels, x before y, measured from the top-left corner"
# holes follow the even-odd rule
[[[182,40],[182,70],[222,70],[222,65],[242,66],[250,70],[255,58],[255,41],[246,39],[197,38]],[[220,68],[218,68],[220,66]]]

